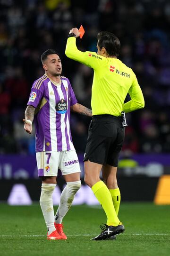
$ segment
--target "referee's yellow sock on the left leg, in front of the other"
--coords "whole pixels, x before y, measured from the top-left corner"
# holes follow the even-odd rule
[[[114,209],[113,201],[108,187],[102,181],[100,181],[93,185],[92,191],[106,213],[106,224],[108,226],[118,226],[120,220],[118,219]]]

